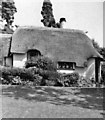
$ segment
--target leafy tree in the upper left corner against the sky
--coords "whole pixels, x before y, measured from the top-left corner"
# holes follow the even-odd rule
[[[7,26],[10,28],[14,22],[14,14],[17,12],[13,0],[2,1],[2,19],[6,20]]]

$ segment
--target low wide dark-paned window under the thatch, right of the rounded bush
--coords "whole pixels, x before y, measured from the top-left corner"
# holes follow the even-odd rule
[[[75,66],[75,62],[58,62],[58,69],[62,70],[74,70]]]

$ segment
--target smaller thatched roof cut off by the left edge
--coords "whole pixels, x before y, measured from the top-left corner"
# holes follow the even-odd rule
[[[10,34],[0,34],[0,59],[8,56],[10,50]]]

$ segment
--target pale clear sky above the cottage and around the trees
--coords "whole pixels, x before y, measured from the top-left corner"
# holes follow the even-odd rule
[[[103,1],[102,0],[50,0],[56,22],[66,18],[65,28],[88,31],[88,36],[103,46]],[[39,26],[43,0],[14,0],[17,8],[14,24]]]

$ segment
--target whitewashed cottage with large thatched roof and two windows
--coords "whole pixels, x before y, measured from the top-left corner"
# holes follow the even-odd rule
[[[27,59],[43,55],[57,62],[58,72],[77,71],[81,75],[93,75],[97,79],[100,76],[102,56],[83,31],[19,27],[12,35],[10,43],[10,54],[6,55],[10,55],[10,64],[13,67],[22,68]]]

